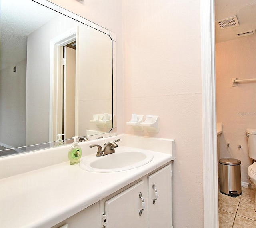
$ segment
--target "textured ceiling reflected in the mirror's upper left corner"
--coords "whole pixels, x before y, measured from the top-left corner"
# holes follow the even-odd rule
[[[28,34],[56,14],[31,0],[0,0],[1,69],[26,58]]]

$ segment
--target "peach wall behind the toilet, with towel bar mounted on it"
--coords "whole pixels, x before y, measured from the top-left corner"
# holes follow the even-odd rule
[[[223,124],[220,157],[241,160],[242,182],[249,182],[247,168],[252,164],[246,128],[256,128],[256,87],[254,82],[232,87],[232,78],[255,78],[255,50],[256,36],[216,44],[217,122]]]

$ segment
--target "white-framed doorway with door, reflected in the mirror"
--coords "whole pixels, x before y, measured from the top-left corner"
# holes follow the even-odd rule
[[[50,142],[57,134],[65,134],[63,139],[77,135],[77,34],[78,27],[51,40]]]

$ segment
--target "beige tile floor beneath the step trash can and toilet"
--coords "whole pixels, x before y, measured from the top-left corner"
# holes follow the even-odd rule
[[[242,195],[230,197],[218,192],[219,228],[256,227],[255,186],[242,187]]]

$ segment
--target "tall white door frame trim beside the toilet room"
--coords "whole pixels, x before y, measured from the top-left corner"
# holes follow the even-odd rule
[[[214,0],[201,0],[204,227],[218,228]]]

